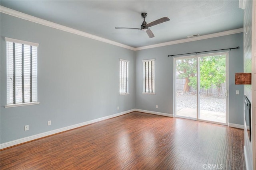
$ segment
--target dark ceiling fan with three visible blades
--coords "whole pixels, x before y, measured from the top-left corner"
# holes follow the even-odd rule
[[[148,34],[148,37],[150,38],[153,38],[154,37],[154,34],[152,33],[152,31],[149,29],[149,27],[152,27],[154,25],[157,25],[157,24],[160,24],[160,23],[163,23],[163,22],[166,22],[166,21],[170,21],[170,19],[168,17],[163,17],[163,18],[160,18],[158,20],[155,20],[153,22],[150,22],[150,23],[146,23],[145,21],[145,18],[147,17],[147,13],[146,12],[143,12],[141,13],[141,16],[143,17],[143,22],[142,22],[142,25],[140,25],[140,28],[126,28],[126,27],[115,27],[116,29],[140,29],[142,31],[146,31],[146,33]]]

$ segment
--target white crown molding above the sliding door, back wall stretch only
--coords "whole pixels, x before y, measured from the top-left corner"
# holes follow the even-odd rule
[[[202,39],[221,37],[221,36],[224,36],[224,35],[231,35],[231,34],[236,34],[236,33],[242,33],[243,31],[244,31],[244,28],[232,29],[232,30],[223,31],[223,32],[220,32],[220,33],[201,35],[201,36],[198,36],[198,37],[179,39],[179,40],[176,40],[176,41],[169,41],[169,42],[166,42],[166,43],[159,43],[159,44],[148,45],[148,46],[144,46],[144,47],[137,47],[134,50],[138,51],[138,50],[144,50],[144,49],[151,49],[151,48],[155,48],[155,47],[163,47],[163,46],[166,46],[166,45],[187,43],[187,42],[191,42],[191,41],[198,41],[198,40],[202,40]]]

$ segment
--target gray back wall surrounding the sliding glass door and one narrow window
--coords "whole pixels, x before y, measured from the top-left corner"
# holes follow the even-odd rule
[[[136,109],[173,113],[173,59],[168,55],[226,49],[238,47],[229,51],[229,123],[243,125],[243,86],[235,85],[235,73],[243,72],[243,33],[204,39],[188,43],[145,49],[136,52]],[[222,51],[218,51],[222,52]],[[203,54],[203,53],[200,53]],[[143,64],[142,60],[155,61],[155,95],[142,94]],[[236,95],[236,90],[240,94]],[[156,109],[158,105],[158,109]]]

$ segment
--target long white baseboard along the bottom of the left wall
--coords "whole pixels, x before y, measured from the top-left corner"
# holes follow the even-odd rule
[[[29,137],[24,137],[24,138],[21,138],[21,139],[16,139],[14,141],[2,143],[2,144],[0,144],[0,149],[12,147],[14,145],[19,145],[21,143],[33,141],[35,139],[39,139],[39,138],[46,137],[46,136],[49,136],[49,135],[54,135],[56,133],[68,131],[70,129],[75,129],[75,128],[78,128],[78,127],[82,127],[84,125],[89,125],[89,124],[92,124],[92,123],[96,123],[96,122],[99,122],[99,121],[103,121],[103,120],[106,120],[106,119],[110,119],[110,118],[113,118],[113,117],[124,115],[126,113],[130,113],[130,112],[133,112],[133,111],[135,111],[135,109],[123,111],[121,113],[116,113],[116,114],[105,116],[105,117],[101,117],[101,118],[98,118],[98,119],[94,119],[94,120],[78,123],[78,124],[75,124],[75,125],[71,125],[71,126],[67,126],[67,127],[62,127],[60,129],[55,129],[55,130],[52,130],[52,131],[48,131],[48,132],[44,132],[44,133],[39,133],[39,134],[32,135],[32,136],[29,136]]]

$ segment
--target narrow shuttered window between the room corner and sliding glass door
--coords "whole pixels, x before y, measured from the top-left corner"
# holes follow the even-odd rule
[[[143,60],[143,93],[155,94],[155,59]]]

